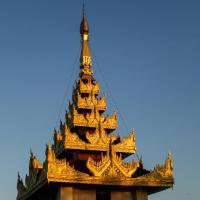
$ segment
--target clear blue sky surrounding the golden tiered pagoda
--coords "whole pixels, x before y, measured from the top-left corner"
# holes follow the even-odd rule
[[[0,199],[15,199],[30,148],[43,161],[64,117],[79,69],[81,4],[0,0]],[[86,4],[95,77],[125,121],[119,116],[117,133],[136,130],[147,169],[169,150],[174,158],[174,189],[149,199],[199,199],[200,1]]]

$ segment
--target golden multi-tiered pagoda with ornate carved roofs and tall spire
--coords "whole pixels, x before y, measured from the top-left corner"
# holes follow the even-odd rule
[[[25,181],[18,175],[17,200],[147,200],[148,195],[173,187],[173,161],[152,170],[142,160],[124,159],[136,153],[135,132],[121,138],[117,113],[105,115],[106,97],[92,71],[85,14],[80,25],[79,78],[65,121],[55,130],[53,144],[46,146],[42,163],[30,153]]]

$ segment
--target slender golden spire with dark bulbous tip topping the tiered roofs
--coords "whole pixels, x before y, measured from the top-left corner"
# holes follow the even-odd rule
[[[85,16],[85,8],[83,4],[83,18],[80,25],[80,34],[82,38],[80,64],[81,64],[81,69],[83,69],[84,73],[91,74],[90,66],[92,66],[92,58],[88,46],[88,33],[89,33],[89,24]]]

